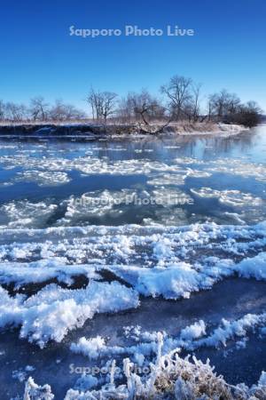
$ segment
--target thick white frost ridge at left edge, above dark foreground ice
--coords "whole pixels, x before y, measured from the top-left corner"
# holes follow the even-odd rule
[[[1,288],[0,326],[21,325],[20,337],[43,348],[48,340],[61,341],[97,313],[137,308],[138,304],[137,292],[117,282],[92,281],[86,289],[76,290],[49,284],[26,300],[21,295],[12,298]]]

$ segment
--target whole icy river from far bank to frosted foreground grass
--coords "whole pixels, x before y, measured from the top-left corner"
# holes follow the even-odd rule
[[[265,125],[0,139],[0,193],[1,399],[28,376],[59,399],[101,386],[79,367],[143,367],[157,332],[164,352],[209,357],[230,383],[265,371]]]

